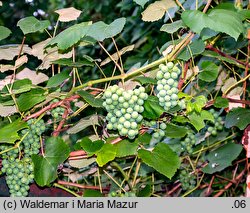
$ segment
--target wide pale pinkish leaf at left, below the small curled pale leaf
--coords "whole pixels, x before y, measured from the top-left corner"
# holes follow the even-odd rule
[[[44,81],[47,81],[49,77],[43,73],[37,73],[29,68],[24,68],[22,71],[17,73],[16,79],[25,79],[28,78],[32,81],[32,84],[37,85]]]

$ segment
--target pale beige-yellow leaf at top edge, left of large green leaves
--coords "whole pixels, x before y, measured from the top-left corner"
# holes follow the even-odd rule
[[[143,12],[142,12],[142,20],[143,21],[157,21],[161,19],[165,12],[172,7],[175,7],[176,4],[173,0],[162,0],[156,1],[150,4]]]

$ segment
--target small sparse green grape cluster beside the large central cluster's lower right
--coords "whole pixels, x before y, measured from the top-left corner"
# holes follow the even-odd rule
[[[166,123],[163,121],[143,121],[145,126],[149,126],[153,130],[153,138],[159,139],[165,136],[165,129],[167,128]]]

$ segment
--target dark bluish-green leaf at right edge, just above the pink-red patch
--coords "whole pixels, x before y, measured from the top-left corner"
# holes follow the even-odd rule
[[[237,126],[240,130],[243,130],[248,124],[250,124],[250,109],[234,108],[226,115],[226,128]]]

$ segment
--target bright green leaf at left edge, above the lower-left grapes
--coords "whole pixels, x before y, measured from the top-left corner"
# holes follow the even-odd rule
[[[16,120],[0,129],[0,143],[15,143],[19,140],[18,131],[27,128],[26,122],[22,120]]]

